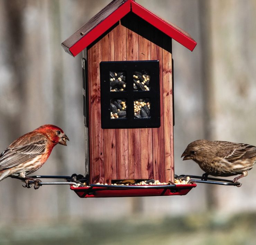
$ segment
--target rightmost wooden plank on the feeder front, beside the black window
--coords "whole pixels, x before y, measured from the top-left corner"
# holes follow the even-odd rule
[[[169,39],[163,38],[163,47],[171,46]],[[165,178],[174,180],[173,160],[173,89],[172,54],[163,49],[163,111],[164,111],[164,149]]]

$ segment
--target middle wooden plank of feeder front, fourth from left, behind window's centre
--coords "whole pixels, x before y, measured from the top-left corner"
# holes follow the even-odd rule
[[[131,19],[132,29],[138,32],[138,22]],[[126,29],[127,40],[127,60],[139,60],[139,36],[136,32]],[[129,178],[141,179],[140,171],[140,129],[133,128],[128,130],[128,161],[129,161]]]

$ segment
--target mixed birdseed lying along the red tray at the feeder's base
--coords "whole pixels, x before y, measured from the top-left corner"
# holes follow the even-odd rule
[[[174,184],[175,185],[188,185],[188,182],[190,180],[190,177],[184,177],[184,178],[179,178],[179,179],[174,179]],[[168,184],[172,184],[172,183],[161,183],[159,180],[154,180],[154,179],[149,179],[149,180],[142,180],[140,182],[136,182],[135,179],[128,179],[128,180],[122,180],[118,183],[115,184],[111,184],[113,186],[115,185],[122,185],[122,186],[129,186],[129,185],[168,185]],[[83,184],[77,184],[78,187],[86,187],[88,185],[86,185],[86,183]],[[108,184],[103,184],[103,183],[96,183],[96,185],[108,185]],[[77,186],[73,186],[73,187],[77,187]]]

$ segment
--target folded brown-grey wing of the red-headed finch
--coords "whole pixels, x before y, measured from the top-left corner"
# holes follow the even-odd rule
[[[0,154],[0,171],[30,161],[45,152],[47,139],[43,135],[27,135],[16,139]]]

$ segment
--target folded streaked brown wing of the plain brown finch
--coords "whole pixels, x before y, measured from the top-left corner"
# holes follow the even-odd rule
[[[234,161],[255,157],[255,156],[256,156],[255,146],[251,146],[247,144],[239,144],[238,147],[231,150],[224,158],[228,160],[230,163],[234,163]]]

